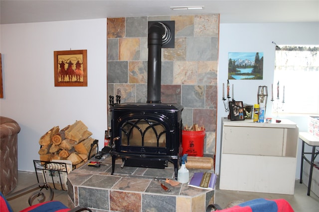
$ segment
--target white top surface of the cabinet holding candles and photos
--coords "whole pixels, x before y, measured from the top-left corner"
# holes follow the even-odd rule
[[[276,123],[276,119],[272,120],[272,123],[257,123],[253,122],[252,119],[231,121],[227,117],[222,118],[224,126],[234,126],[234,127],[264,127],[264,128],[296,128],[297,124],[288,120],[280,119],[281,123]]]

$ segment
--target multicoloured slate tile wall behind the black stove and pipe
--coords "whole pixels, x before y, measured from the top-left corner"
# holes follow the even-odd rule
[[[175,21],[175,48],[162,49],[161,101],[183,105],[184,125],[204,125],[204,153],[215,154],[219,14],[108,18],[108,96],[147,101],[147,26],[163,20]]]

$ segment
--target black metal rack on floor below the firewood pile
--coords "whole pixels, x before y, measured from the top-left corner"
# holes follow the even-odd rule
[[[67,191],[66,176],[70,171],[67,163],[33,160],[33,164],[38,183],[40,183],[38,175],[41,174],[43,181],[53,189]]]

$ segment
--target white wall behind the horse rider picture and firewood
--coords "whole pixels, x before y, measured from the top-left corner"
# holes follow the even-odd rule
[[[104,145],[107,129],[106,19],[1,25],[1,116],[16,120],[18,170],[34,171],[39,138],[81,120]],[[55,87],[53,52],[87,50],[87,87]]]

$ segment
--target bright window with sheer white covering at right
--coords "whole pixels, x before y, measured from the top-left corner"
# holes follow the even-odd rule
[[[319,46],[276,46],[273,98],[273,112],[319,114]]]

